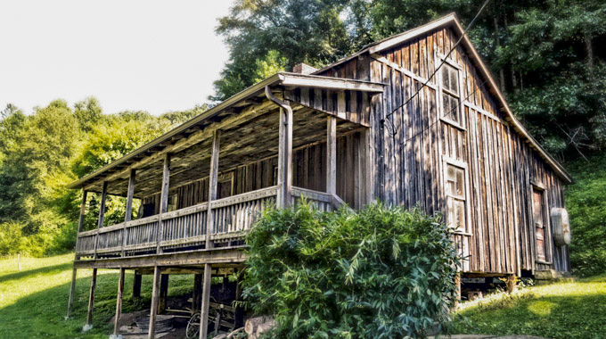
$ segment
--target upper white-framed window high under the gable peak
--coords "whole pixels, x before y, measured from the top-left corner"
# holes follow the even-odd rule
[[[459,70],[444,63],[440,69],[441,95],[442,95],[442,120],[457,127],[463,128],[463,117],[459,94]]]

